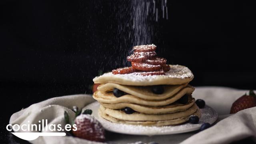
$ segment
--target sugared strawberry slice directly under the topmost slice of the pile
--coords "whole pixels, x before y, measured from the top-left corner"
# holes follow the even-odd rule
[[[156,56],[156,52],[134,52],[132,55],[127,56],[129,62],[145,62],[151,60]]]

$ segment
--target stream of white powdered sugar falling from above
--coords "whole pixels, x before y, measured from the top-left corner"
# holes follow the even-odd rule
[[[132,0],[132,8],[133,46],[152,44],[154,21],[158,22],[161,14],[168,19],[167,0]]]

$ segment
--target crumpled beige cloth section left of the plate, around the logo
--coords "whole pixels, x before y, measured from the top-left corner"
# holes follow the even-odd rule
[[[75,114],[71,110],[73,106],[77,106],[79,109],[84,108],[87,104],[94,102],[95,100],[88,94],[77,94],[70,96],[61,96],[56,98],[50,98],[42,102],[32,104],[28,108],[22,109],[19,112],[12,114],[10,118],[10,124],[38,124],[38,120],[48,120],[48,126],[50,124],[61,124],[64,128],[66,122],[64,120],[64,111],[68,112],[71,119]],[[29,122],[28,122],[29,121]],[[18,132],[25,132],[19,130]],[[26,131],[31,132],[31,131]],[[40,132],[40,131],[37,131]],[[49,128],[41,130],[41,132],[53,132]],[[92,142],[73,136],[39,136],[35,140],[29,141],[32,144],[102,144],[101,142]]]

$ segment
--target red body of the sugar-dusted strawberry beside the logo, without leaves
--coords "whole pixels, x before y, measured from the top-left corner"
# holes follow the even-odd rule
[[[105,130],[93,116],[89,114],[81,114],[76,117],[75,124],[77,130],[73,129],[74,136],[78,138],[84,138],[86,140],[92,140],[96,142],[104,142]]]

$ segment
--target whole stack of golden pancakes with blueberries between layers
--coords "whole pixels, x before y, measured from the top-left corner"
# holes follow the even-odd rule
[[[145,126],[181,124],[191,115],[200,118],[200,110],[191,95],[195,88],[188,84],[193,78],[192,72],[180,65],[170,65],[165,75],[109,72],[93,79],[95,84],[101,84],[93,98],[100,102],[99,115],[111,122]],[[152,92],[158,85],[164,88],[162,94]],[[124,95],[114,96],[114,89]],[[188,98],[185,104],[179,102],[183,96]],[[135,112],[127,114],[124,111],[127,107]]]

